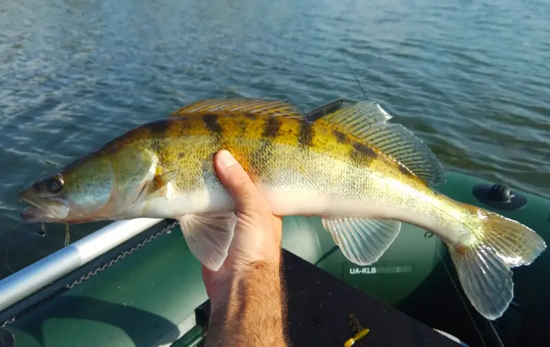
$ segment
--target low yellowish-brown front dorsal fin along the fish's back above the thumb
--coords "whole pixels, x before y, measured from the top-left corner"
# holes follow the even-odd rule
[[[179,117],[181,115],[189,115],[190,113],[206,113],[206,112],[248,112],[261,113],[264,115],[284,115],[285,117],[305,117],[303,113],[298,111],[289,102],[283,100],[265,100],[251,98],[234,98],[234,99],[204,99],[191,102],[181,109],[177,109],[170,113],[170,117]]]

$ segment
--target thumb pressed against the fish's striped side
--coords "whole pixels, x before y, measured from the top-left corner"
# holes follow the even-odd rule
[[[216,154],[214,166],[221,183],[228,189],[239,208],[254,208],[260,205],[263,201],[262,195],[228,150],[220,150]]]

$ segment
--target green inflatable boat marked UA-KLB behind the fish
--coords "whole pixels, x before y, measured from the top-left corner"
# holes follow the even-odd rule
[[[338,105],[312,113],[320,116]],[[547,199],[458,172],[448,172],[441,192],[516,219],[550,242]],[[460,336],[468,346],[478,344],[467,318],[467,311],[476,313],[452,288],[444,269],[452,276],[454,269],[436,236],[404,224],[378,262],[358,267],[335,247],[320,220],[287,217],[283,228],[283,248],[290,254],[430,328]],[[491,326],[508,347],[542,346],[541,339],[548,339],[541,337],[542,327],[550,326],[548,276],[541,275],[547,269],[550,253],[544,252],[533,265],[514,271],[516,300]],[[196,346],[206,329],[199,308],[207,301],[200,264],[174,221],[115,222],[0,282],[0,346]],[[458,327],[461,319],[470,331]]]

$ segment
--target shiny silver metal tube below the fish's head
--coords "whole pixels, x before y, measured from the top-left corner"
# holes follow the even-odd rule
[[[163,219],[115,221],[0,281],[0,311],[140,234]]]

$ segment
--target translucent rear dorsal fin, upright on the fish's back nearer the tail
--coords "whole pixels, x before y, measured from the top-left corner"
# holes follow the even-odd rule
[[[429,186],[445,181],[445,170],[432,150],[401,124],[388,123],[392,118],[380,104],[362,101],[320,118],[338,124],[347,133],[369,142],[406,166]]]

